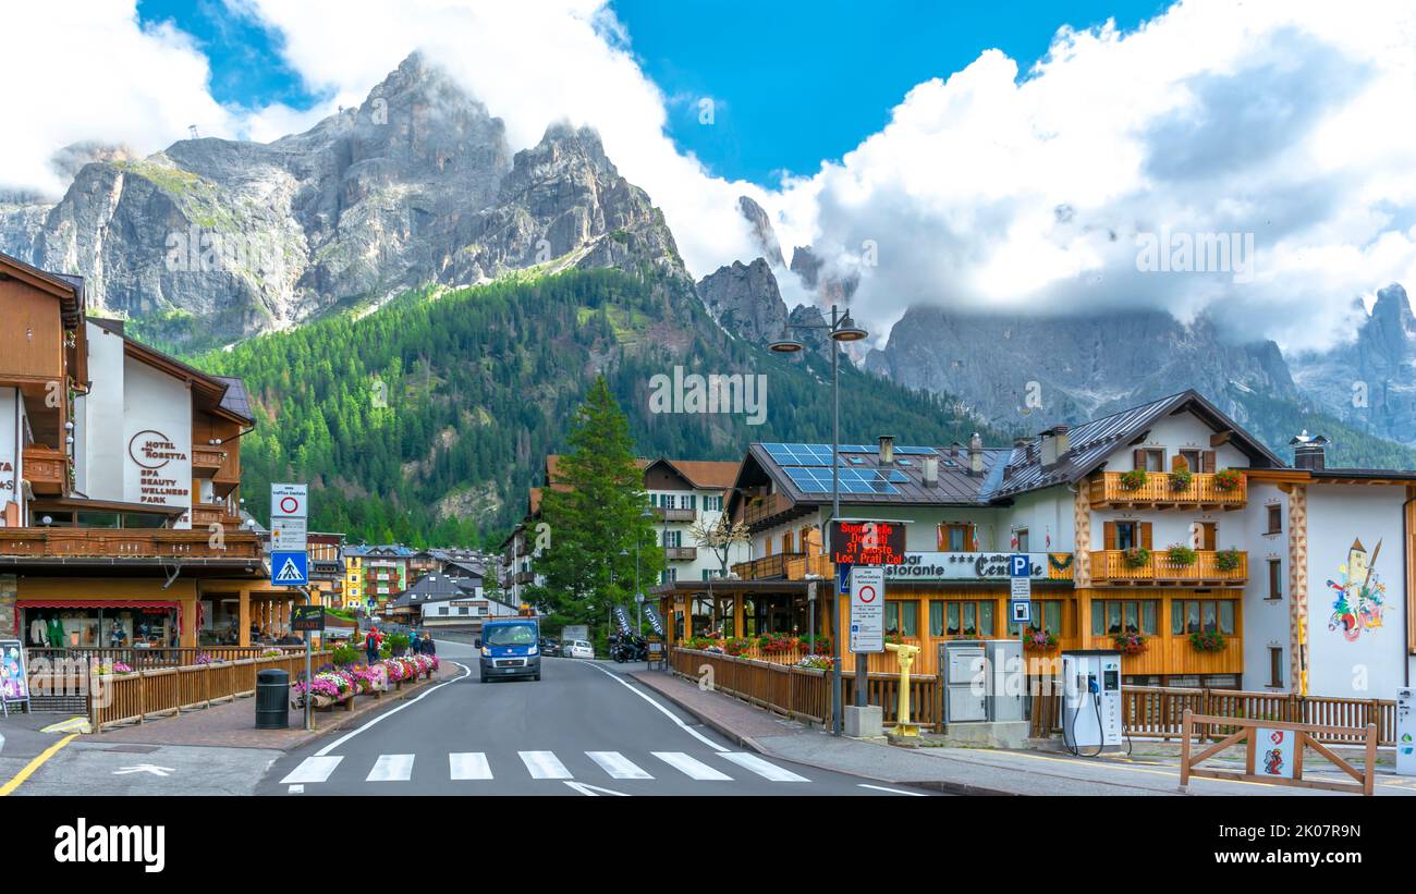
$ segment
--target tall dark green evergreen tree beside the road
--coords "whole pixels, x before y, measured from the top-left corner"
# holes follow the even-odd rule
[[[547,482],[541,498],[549,545],[537,560],[545,586],[532,596],[545,603],[552,624],[600,625],[613,605],[633,608],[636,555],[640,580],[651,581],[664,552],[646,512],[629,419],[603,376],[576,410],[568,441],[555,487]]]

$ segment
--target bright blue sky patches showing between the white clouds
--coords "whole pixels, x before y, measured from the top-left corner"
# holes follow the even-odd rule
[[[878,132],[905,93],[998,48],[1027,71],[1065,24],[1161,11],[1155,0],[1010,3],[845,0],[613,0],[644,72],[670,98],[670,136],[712,173],[775,185],[816,173]],[[144,23],[173,21],[211,61],[212,96],[258,108],[319,102],[280,59],[280,35],[221,0],[140,0]],[[411,48],[409,48],[411,50]],[[372,86],[372,85],[370,85]],[[700,100],[714,100],[711,126]],[[497,110],[493,110],[497,113]]]

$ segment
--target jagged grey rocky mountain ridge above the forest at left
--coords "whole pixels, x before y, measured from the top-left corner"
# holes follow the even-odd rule
[[[555,124],[513,157],[501,120],[419,54],[300,134],[91,158],[55,204],[0,197],[0,250],[84,276],[95,310],[176,344],[524,267],[687,276],[593,130]]]

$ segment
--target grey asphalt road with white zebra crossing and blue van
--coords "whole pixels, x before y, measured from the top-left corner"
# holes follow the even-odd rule
[[[595,662],[545,658],[539,682],[481,683],[470,646],[438,651],[467,672],[286,754],[256,794],[895,796],[732,745]]]

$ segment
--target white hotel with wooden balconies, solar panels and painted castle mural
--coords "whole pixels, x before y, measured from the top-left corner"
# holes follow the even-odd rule
[[[1391,697],[1416,654],[1416,472],[1325,468],[1321,439],[1293,446],[1290,465],[1188,390],[1012,447],[881,439],[835,461],[843,519],[905,526],[885,624],[923,646],[919,673],[944,641],[1020,637],[1007,556],[1028,553],[1032,624],[1055,641],[1029,658],[1130,635],[1129,685]],[[806,634],[813,580],[816,632],[834,634],[831,461],[830,446],[749,447],[726,511],[752,557],[728,580],[658,587],[671,638]]]

